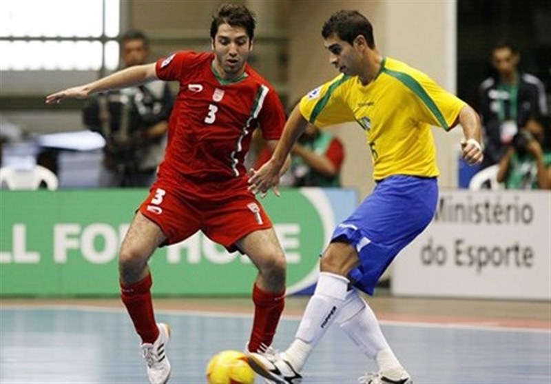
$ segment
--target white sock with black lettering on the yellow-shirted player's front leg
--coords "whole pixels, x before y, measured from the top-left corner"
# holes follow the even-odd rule
[[[337,317],[346,299],[348,285],[349,280],[344,276],[329,272],[320,273],[318,285],[306,305],[295,340],[284,352],[284,358],[297,372],[302,370],[313,348]]]

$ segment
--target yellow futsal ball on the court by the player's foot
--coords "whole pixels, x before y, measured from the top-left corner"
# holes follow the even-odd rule
[[[209,384],[253,384],[254,376],[247,356],[239,351],[218,352],[207,365]]]

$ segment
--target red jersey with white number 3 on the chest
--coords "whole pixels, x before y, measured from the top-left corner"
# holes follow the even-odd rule
[[[253,130],[280,139],[285,114],[273,86],[249,65],[236,80],[220,79],[214,53],[182,51],[156,63],[159,79],[178,81],[165,160],[158,178],[171,179],[194,198],[216,198],[247,188],[243,165]]]

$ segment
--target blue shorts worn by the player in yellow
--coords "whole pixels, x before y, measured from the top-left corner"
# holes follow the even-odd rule
[[[373,294],[398,252],[433,219],[437,200],[436,178],[396,175],[377,183],[331,239],[353,245],[360,256],[360,266],[349,274],[352,285]]]

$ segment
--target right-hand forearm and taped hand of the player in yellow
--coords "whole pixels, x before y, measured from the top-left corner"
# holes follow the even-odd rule
[[[464,136],[464,139],[461,140],[461,156],[471,165],[480,164],[484,159],[484,154],[480,144],[481,125],[479,115],[469,105],[465,104],[459,111],[457,122],[461,124]]]

